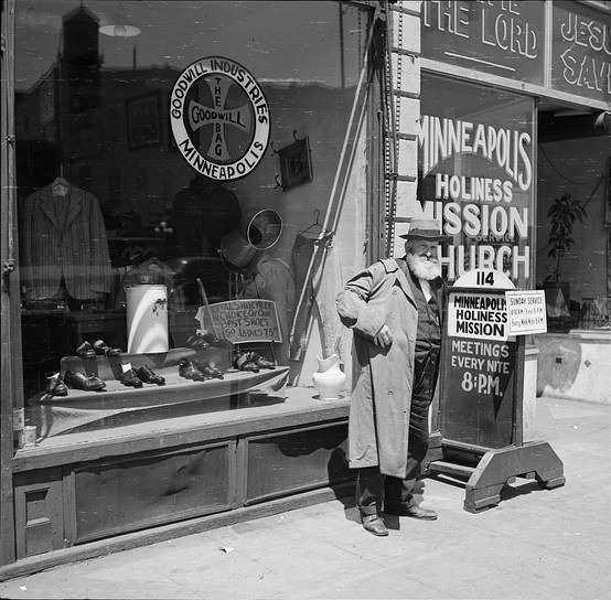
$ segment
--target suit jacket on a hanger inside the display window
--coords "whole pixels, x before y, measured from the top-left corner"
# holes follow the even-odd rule
[[[106,227],[93,194],[69,185],[65,196],[54,199],[46,185],[25,199],[21,222],[21,285],[29,300],[55,296],[62,277],[77,300],[110,291]]]

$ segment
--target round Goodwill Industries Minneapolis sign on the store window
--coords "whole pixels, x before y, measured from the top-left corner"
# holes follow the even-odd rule
[[[250,173],[269,142],[269,105],[255,77],[222,56],[200,58],[170,96],[176,148],[197,172],[218,181]]]

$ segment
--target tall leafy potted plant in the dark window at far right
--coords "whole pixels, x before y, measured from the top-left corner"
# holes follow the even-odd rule
[[[583,223],[587,216],[586,208],[581,202],[572,200],[570,194],[564,193],[560,197],[554,199],[547,216],[551,222],[548,245],[551,246],[547,256],[555,259],[553,271],[545,278],[545,289],[562,290],[562,296],[567,308],[570,301],[570,285],[568,281],[560,280],[560,260],[570,250],[575,244],[572,237],[572,227],[576,221]]]

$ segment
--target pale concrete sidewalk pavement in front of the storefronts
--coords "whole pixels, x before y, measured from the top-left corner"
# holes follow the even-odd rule
[[[0,597],[610,598],[611,406],[543,397],[536,424],[562,488],[518,479],[472,514],[462,485],[429,478],[439,519],[386,517],[388,537],[334,500],[4,581]]]

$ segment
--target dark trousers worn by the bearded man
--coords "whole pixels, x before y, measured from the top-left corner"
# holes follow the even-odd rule
[[[407,444],[407,473],[405,479],[384,475],[379,467],[358,469],[356,505],[361,515],[375,515],[382,510],[410,506],[414,490],[421,474],[421,463],[429,449],[429,406],[435,390],[438,353],[416,362],[415,386],[409,413],[409,441]]]

